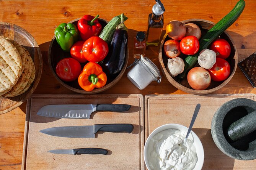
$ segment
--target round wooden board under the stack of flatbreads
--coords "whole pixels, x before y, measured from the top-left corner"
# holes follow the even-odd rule
[[[8,22],[0,22],[0,35],[9,37],[26,48],[34,61],[36,77],[29,89],[22,95],[0,98],[0,114],[9,112],[26,101],[36,89],[42,73],[42,53],[34,37],[23,28]]]

